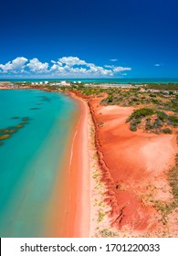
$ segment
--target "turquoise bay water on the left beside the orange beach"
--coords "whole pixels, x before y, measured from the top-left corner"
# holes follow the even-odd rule
[[[0,146],[0,237],[44,236],[58,166],[78,112],[78,103],[59,93],[0,91],[0,129],[29,117]]]

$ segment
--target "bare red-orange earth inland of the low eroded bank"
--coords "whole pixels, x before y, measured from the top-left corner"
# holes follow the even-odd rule
[[[145,232],[162,229],[161,217],[149,200],[164,199],[162,190],[169,190],[164,171],[174,165],[176,136],[132,133],[125,123],[131,108],[104,107],[99,101],[90,100],[89,105],[96,124],[99,163],[108,187],[106,201],[112,208],[112,225]],[[142,198],[149,194],[149,200],[143,203]]]

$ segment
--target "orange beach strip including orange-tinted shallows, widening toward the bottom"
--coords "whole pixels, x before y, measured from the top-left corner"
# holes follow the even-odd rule
[[[70,154],[63,165],[65,172],[58,177],[54,189],[55,196],[49,209],[48,237],[89,237],[89,110],[87,102],[75,99],[79,101],[80,111],[68,144],[67,155],[68,151]]]

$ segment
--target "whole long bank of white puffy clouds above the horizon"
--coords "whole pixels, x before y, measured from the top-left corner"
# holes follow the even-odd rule
[[[72,56],[62,57],[58,60],[51,60],[50,64],[47,62],[41,62],[37,58],[27,60],[24,57],[18,57],[12,62],[7,62],[5,65],[0,64],[1,73],[28,73],[29,75],[34,75],[34,73],[36,73],[67,78],[109,77],[117,74],[123,74],[123,71],[125,70],[131,70],[131,68],[118,67],[115,65],[105,65],[101,67],[94,63]]]

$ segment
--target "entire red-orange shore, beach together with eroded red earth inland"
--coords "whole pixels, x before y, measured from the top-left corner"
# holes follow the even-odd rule
[[[173,197],[167,173],[175,165],[175,133],[133,133],[125,123],[131,107],[99,105],[101,98],[79,91],[66,94],[79,113],[48,237],[178,237],[176,208],[167,224],[157,208]]]

